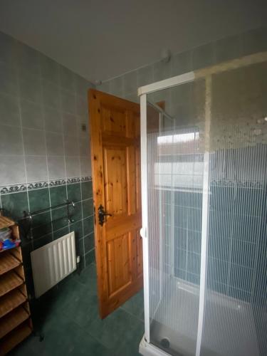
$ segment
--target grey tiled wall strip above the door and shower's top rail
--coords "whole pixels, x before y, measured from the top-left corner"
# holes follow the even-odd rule
[[[178,53],[172,56],[169,63],[159,61],[150,66],[132,70],[130,73],[105,81],[98,86],[98,90],[137,102],[139,100],[137,98],[137,88],[142,85],[258,51],[267,51],[266,27],[221,38],[219,41],[206,43]],[[155,100],[155,102],[165,100],[166,110],[171,113],[172,98],[170,93],[170,90],[162,90],[162,92],[156,93],[155,96],[152,95],[150,99]]]

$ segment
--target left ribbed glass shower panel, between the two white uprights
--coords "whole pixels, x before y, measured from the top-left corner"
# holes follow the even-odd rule
[[[173,117],[147,107],[150,340],[171,355],[195,355],[197,342],[204,155],[194,86],[184,85],[187,103],[163,91]]]

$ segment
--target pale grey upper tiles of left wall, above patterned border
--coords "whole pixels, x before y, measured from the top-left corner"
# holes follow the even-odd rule
[[[0,187],[90,176],[93,85],[4,33],[0,48]]]

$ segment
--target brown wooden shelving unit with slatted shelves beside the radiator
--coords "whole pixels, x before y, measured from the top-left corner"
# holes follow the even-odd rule
[[[0,229],[9,227],[14,239],[19,228],[0,216]],[[0,356],[6,355],[32,332],[21,247],[0,252]]]

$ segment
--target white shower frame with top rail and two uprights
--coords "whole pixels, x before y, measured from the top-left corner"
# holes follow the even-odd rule
[[[216,66],[191,71],[172,78],[160,80],[156,83],[138,88],[140,96],[141,110],[141,188],[142,188],[142,236],[143,246],[143,272],[144,272],[144,304],[145,304],[145,335],[140,342],[140,352],[144,356],[168,355],[159,347],[150,343],[150,276],[149,276],[149,248],[147,231],[147,94],[159,90],[172,88],[177,85],[193,82],[198,78],[205,80],[205,152],[204,152],[204,174],[202,184],[202,225],[201,225],[201,265],[200,265],[200,284],[199,284],[199,318],[197,328],[196,356],[200,355],[201,339],[204,325],[204,307],[205,307],[205,286],[206,286],[206,251],[208,244],[208,206],[209,206],[209,128],[211,122],[211,75],[221,73],[226,70],[249,66],[253,63],[267,61],[267,52],[255,53],[242,58],[236,58],[232,61],[220,63]]]

